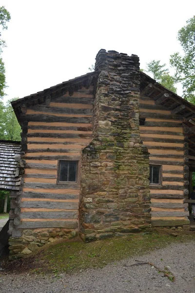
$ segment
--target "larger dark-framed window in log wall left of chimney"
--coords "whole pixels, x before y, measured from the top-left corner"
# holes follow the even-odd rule
[[[77,182],[78,161],[59,161],[58,182]]]

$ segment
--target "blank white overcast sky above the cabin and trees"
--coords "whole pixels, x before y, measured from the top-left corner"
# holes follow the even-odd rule
[[[99,49],[137,54],[140,67],[180,50],[194,0],[0,0],[11,14],[3,52],[6,99],[85,74]],[[181,94],[181,92],[179,92]]]

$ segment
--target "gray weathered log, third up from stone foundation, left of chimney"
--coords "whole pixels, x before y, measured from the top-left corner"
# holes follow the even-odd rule
[[[32,209],[78,209],[78,202],[55,202],[55,201],[23,201],[20,208]]]

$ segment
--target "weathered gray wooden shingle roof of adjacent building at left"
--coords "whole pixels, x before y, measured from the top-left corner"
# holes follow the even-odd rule
[[[21,176],[15,161],[20,152],[20,142],[0,140],[0,190],[20,189]]]

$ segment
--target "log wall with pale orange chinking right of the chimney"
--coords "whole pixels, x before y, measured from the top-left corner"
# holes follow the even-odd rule
[[[188,144],[182,117],[173,115],[152,98],[140,97],[140,137],[148,147],[150,164],[162,166],[162,184],[150,185],[153,226],[182,226],[188,224]]]

